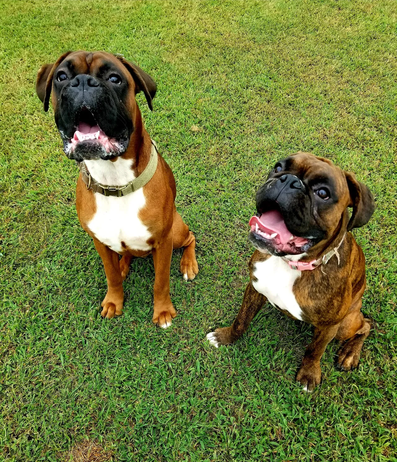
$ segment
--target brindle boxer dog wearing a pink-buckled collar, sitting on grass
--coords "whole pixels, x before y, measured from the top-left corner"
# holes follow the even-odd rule
[[[348,207],[353,207],[349,218]],[[371,324],[361,313],[365,258],[349,232],[375,209],[370,190],[330,160],[297,152],[278,162],[256,193],[249,224],[255,252],[250,282],[231,327],[207,334],[213,346],[235,342],[269,300],[293,319],[314,325],[296,380],[305,391],[320,384],[320,359],[333,339],[343,371],[357,367]]]

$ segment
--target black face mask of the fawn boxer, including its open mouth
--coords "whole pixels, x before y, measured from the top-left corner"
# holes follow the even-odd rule
[[[110,79],[87,74],[59,80],[62,78],[65,73],[57,71],[54,90],[59,104],[55,123],[66,155],[81,161],[123,154],[134,130],[131,116],[122,103],[128,89],[126,82],[115,74]]]

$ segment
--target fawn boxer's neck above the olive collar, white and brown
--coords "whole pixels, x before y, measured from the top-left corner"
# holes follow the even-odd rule
[[[112,160],[86,160],[90,175],[102,184],[122,186],[139,176],[148,165],[152,143],[143,126],[141,111],[136,107],[134,131],[123,155]]]

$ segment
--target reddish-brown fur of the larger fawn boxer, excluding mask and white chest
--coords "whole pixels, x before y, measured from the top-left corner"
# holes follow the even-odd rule
[[[133,159],[135,176],[142,173],[148,164],[152,144],[148,132],[143,126],[141,111],[136,103],[135,95],[139,91],[144,91],[151,106],[150,91],[142,79],[141,74],[137,73],[137,68],[124,58],[113,56],[105,52],[87,53],[79,51],[62,55],[57,62],[42,66],[36,80],[37,94],[44,101],[49,99],[53,74],[59,64],[68,56],[73,60],[77,73],[95,74],[104,62],[111,61],[118,68],[121,75],[129,83],[132,91],[124,105],[130,112],[134,123],[134,131],[130,136],[129,146],[122,155],[125,159]],[[144,74],[144,73],[143,73]],[[135,91],[134,91],[135,90]],[[57,98],[52,93],[52,103],[54,110],[57,106]],[[93,238],[105,267],[108,291],[102,301],[102,316],[107,318],[121,315],[123,310],[123,280],[126,278],[132,257],[143,257],[148,255],[147,251],[134,250],[123,246],[121,260],[119,255],[106,245],[99,242],[89,230],[87,224],[94,216],[95,198],[94,192],[87,189],[83,183],[81,175],[77,180],[76,187],[76,208],[77,216],[83,229]],[[170,265],[172,249],[184,247],[180,269],[183,274],[187,274],[189,279],[193,279],[198,274],[198,266],[195,256],[196,239],[182,218],[176,211],[174,201],[176,196],[176,186],[174,176],[166,161],[158,155],[157,170],[152,179],[143,187],[143,194],[146,198],[145,207],[139,213],[139,219],[148,227],[152,237],[148,244],[152,247],[154,260],[155,280],[154,280],[154,314],[153,322],[164,324],[171,321],[176,316],[176,311],[170,298]]]

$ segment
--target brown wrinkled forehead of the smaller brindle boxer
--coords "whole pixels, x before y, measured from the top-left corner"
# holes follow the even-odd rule
[[[283,161],[282,161],[283,162]],[[319,180],[332,181],[339,193],[347,193],[348,187],[343,170],[331,160],[314,156],[309,152],[296,152],[284,159],[285,170],[310,184]]]

